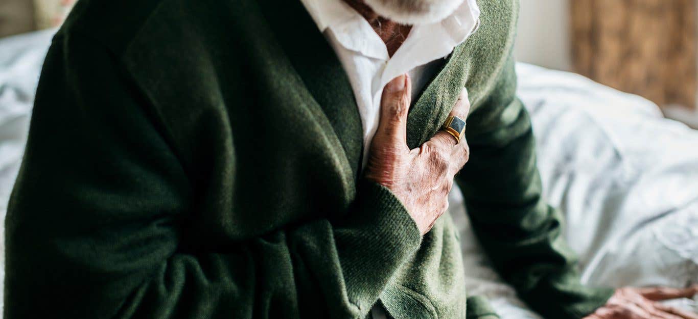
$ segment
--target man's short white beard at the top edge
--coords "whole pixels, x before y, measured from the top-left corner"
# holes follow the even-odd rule
[[[378,15],[401,24],[431,24],[454,13],[463,0],[364,0]]]

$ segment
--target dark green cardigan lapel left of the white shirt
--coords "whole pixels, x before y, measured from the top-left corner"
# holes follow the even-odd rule
[[[301,1],[259,1],[267,21],[315,102],[320,104],[357,178],[363,130],[354,91],[339,59]]]

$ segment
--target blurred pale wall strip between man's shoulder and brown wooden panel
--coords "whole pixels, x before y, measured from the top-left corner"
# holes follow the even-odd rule
[[[572,70],[570,8],[564,0],[520,0],[517,60]]]

